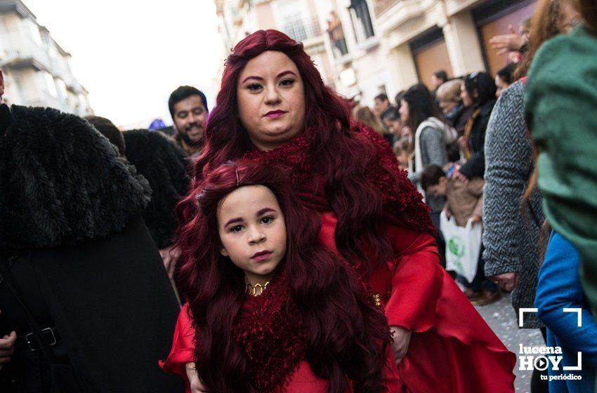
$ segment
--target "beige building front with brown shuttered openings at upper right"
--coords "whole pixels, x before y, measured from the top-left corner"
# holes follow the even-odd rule
[[[376,0],[375,13],[383,51],[391,65],[391,91],[418,81],[430,85],[431,74],[448,76],[476,71],[494,75],[506,65],[489,40],[518,29],[532,15],[534,0]]]

